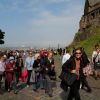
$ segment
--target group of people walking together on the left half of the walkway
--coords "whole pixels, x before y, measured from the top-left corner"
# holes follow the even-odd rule
[[[33,84],[34,91],[44,89],[52,97],[51,80],[56,80],[53,54],[53,50],[0,52],[0,87],[4,80],[5,89],[17,94],[22,81],[27,87]]]

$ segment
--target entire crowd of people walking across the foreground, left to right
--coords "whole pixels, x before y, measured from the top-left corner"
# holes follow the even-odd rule
[[[58,52],[58,53],[57,53]],[[17,86],[20,81],[26,83],[27,87],[32,85],[33,91],[44,89],[50,97],[53,96],[52,80],[56,81],[55,60],[53,55],[62,56],[62,70],[59,78],[60,87],[70,92],[67,100],[81,100],[79,89],[92,92],[87,82],[89,75],[100,78],[100,49],[95,45],[90,62],[84,48],[79,47],[69,52],[68,48],[58,51],[37,50],[32,51],[6,51],[0,52],[0,88],[5,83],[5,90],[12,89],[17,94]],[[91,67],[91,63],[94,67]]]

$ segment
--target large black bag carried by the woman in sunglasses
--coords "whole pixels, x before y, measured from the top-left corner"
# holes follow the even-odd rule
[[[77,80],[77,75],[61,72],[59,78],[65,81],[68,86],[71,86]]]

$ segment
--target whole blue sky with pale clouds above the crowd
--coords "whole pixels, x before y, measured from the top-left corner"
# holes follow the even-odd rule
[[[79,29],[85,0],[0,0],[4,46],[69,45]]]

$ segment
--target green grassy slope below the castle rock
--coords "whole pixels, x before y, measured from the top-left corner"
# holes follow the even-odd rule
[[[98,28],[91,27],[91,30],[96,34],[89,37],[87,40],[80,41],[79,43],[75,44],[75,47],[80,47],[80,46],[84,47],[88,55],[91,55],[95,44],[97,43],[100,44],[100,27]]]

